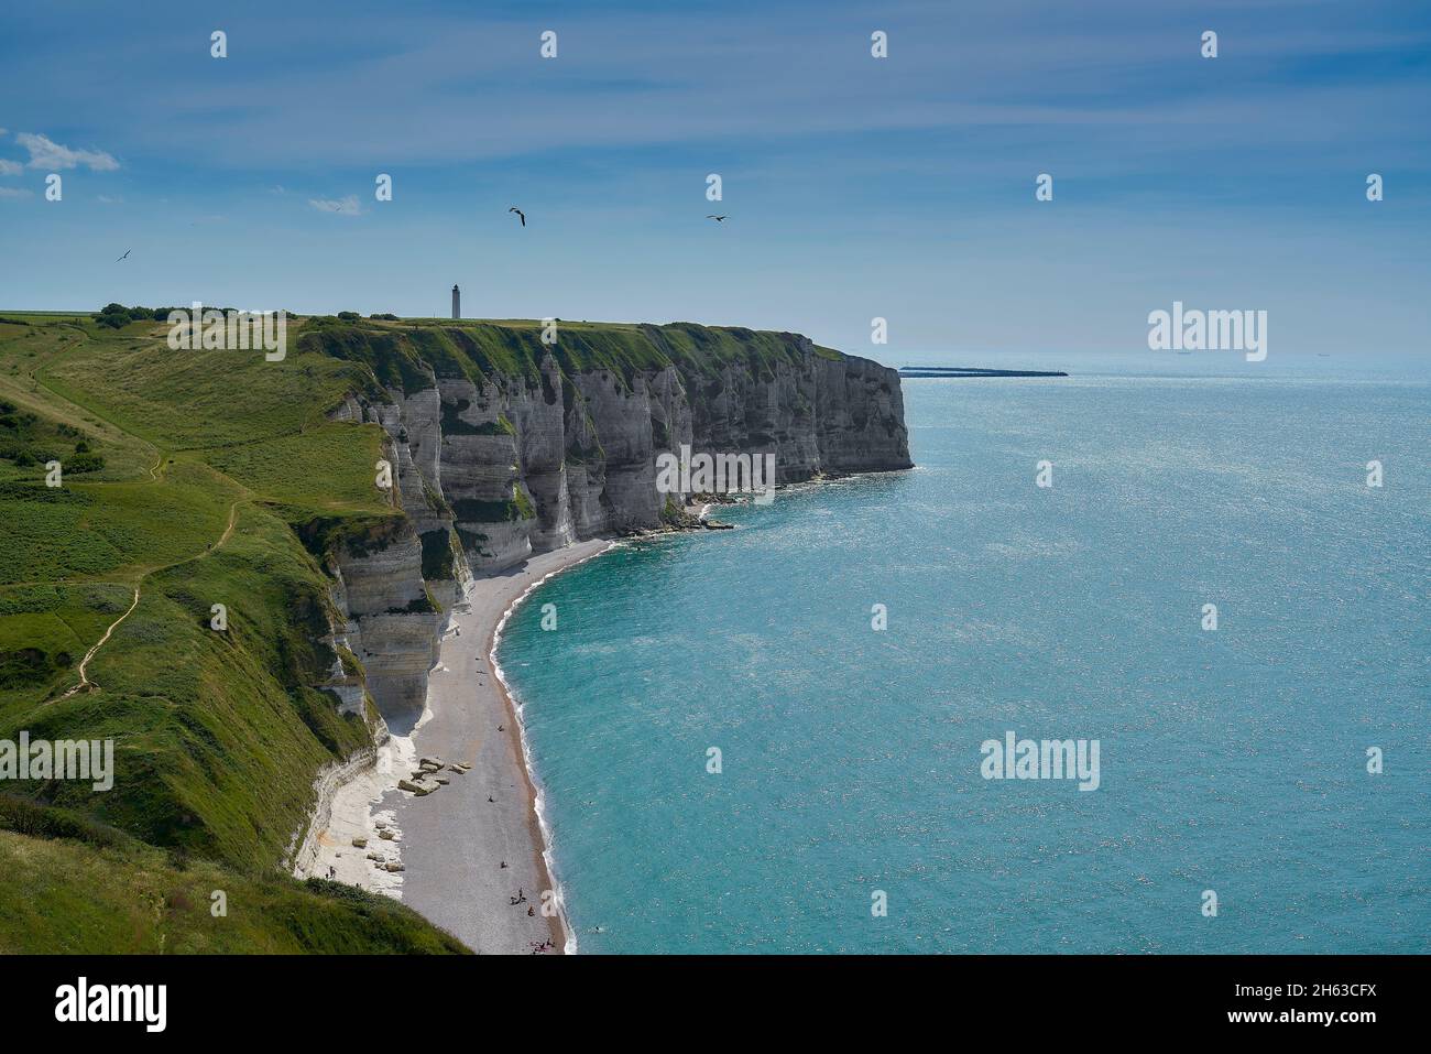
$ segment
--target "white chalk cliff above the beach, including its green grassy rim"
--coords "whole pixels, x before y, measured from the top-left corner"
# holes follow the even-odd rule
[[[657,457],[774,454],[780,484],[909,468],[896,371],[796,334],[535,324],[319,325],[301,347],[372,368],[331,417],[378,422],[409,528],[341,551],[335,596],[391,720],[421,712],[467,574],[658,528]]]

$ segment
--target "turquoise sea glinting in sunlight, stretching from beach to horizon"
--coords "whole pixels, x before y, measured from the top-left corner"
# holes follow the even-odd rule
[[[909,361],[1073,377],[907,379],[914,470],[509,620],[580,951],[1425,952],[1431,371],[964,358]],[[1099,788],[985,779],[1009,730]]]

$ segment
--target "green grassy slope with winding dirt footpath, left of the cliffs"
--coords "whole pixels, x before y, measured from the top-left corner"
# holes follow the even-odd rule
[[[452,949],[398,905],[275,869],[316,770],[371,742],[311,687],[335,657],[316,643],[328,581],[293,531],[395,516],[372,485],[379,430],[323,418],[363,377],[321,355],[172,352],[149,324],[19,318],[0,324],[0,400],[27,441],[77,432],[104,467],[47,488],[43,464],[0,454],[16,543],[0,553],[0,738],[113,738],[117,772],[107,793],[3,790],[142,841],[0,833],[0,951]],[[97,687],[64,696],[136,587],[86,670]],[[226,919],[209,914],[216,888]]]

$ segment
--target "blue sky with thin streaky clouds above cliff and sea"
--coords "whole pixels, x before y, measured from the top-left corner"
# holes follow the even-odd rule
[[[10,3],[0,129],[0,309],[1431,354],[1425,0]]]

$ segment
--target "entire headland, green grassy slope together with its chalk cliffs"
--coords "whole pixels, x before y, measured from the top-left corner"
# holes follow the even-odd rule
[[[660,523],[653,453],[693,435],[790,478],[907,464],[892,371],[793,334],[311,318],[279,362],[166,335],[0,318],[0,739],[116,768],[0,782],[0,951],[451,948],[283,868],[315,778],[421,703],[459,569]]]

